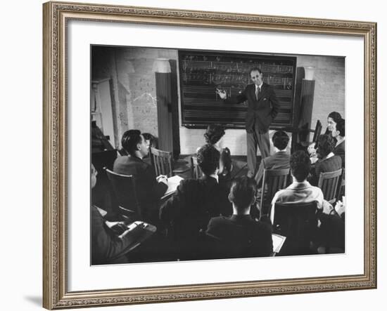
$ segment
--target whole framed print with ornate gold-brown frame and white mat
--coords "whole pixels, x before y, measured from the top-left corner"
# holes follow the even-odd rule
[[[44,4],[44,307],[373,288],[375,23]]]

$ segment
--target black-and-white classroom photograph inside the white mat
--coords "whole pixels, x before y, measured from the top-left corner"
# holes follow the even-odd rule
[[[345,57],[90,46],[91,265],[345,253]]]

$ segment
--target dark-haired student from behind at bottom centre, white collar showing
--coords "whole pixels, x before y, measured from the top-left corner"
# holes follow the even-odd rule
[[[250,178],[233,180],[229,193],[232,216],[211,218],[205,232],[217,240],[213,248],[215,258],[259,257],[272,253],[271,227],[250,216],[255,192],[256,185]]]

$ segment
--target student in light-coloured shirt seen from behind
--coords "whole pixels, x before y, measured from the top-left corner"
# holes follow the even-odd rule
[[[314,187],[307,182],[310,172],[310,159],[305,152],[298,150],[291,154],[290,168],[293,183],[286,189],[279,190],[272,200],[270,220],[274,221],[275,204],[280,203],[307,203],[317,201],[317,209],[322,209],[324,195],[319,187]]]

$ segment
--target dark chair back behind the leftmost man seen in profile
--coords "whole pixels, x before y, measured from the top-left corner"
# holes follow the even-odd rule
[[[141,218],[141,206],[137,198],[136,179],[132,175],[122,175],[104,168],[121,212],[126,216]],[[129,215],[128,215],[129,214]]]

